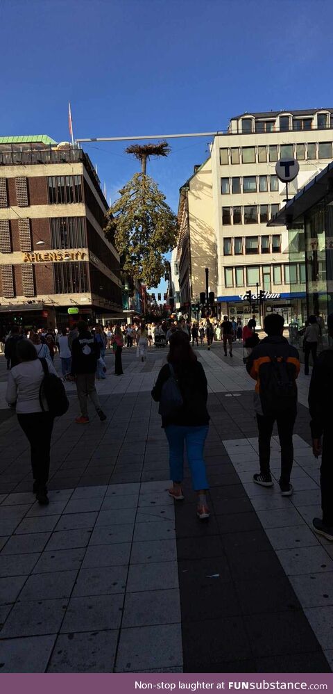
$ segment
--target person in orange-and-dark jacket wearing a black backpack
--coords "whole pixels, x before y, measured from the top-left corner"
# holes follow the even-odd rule
[[[278,425],[281,446],[280,490],[290,497],[293,467],[293,426],[297,414],[296,378],[300,371],[298,351],[283,337],[284,318],[269,314],[264,319],[267,334],[248,357],[246,369],[257,383],[255,412],[259,430],[260,472],[253,481],[262,487],[273,487],[270,469],[271,436],[274,422]]]

